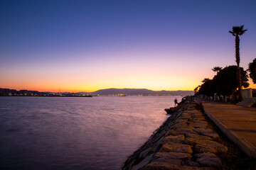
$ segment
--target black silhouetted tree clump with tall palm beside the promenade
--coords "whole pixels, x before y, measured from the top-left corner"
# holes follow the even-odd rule
[[[233,26],[229,31],[235,37],[235,62],[237,65],[214,67],[213,72],[217,72],[213,79],[203,79],[203,84],[194,89],[197,95],[214,98],[215,95],[227,96],[228,101],[242,101],[242,87],[247,88],[249,84],[247,72],[240,67],[240,36],[245,33],[244,26]],[[250,77],[256,82],[256,61],[249,64]]]

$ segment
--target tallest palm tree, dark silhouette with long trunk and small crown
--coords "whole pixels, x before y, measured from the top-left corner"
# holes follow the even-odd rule
[[[235,62],[238,65],[238,96],[239,101],[242,101],[242,83],[241,83],[241,73],[240,73],[240,52],[239,52],[239,44],[240,39],[239,36],[245,33],[243,29],[244,26],[233,26],[232,31],[230,30],[229,33],[231,33],[233,36],[235,36]]]

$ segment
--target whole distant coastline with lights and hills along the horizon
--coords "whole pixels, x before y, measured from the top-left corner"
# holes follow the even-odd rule
[[[194,91],[152,91],[149,89],[101,89],[87,92],[39,92],[16,89],[1,89],[0,96],[63,96],[63,97],[90,97],[90,96],[189,96]]]

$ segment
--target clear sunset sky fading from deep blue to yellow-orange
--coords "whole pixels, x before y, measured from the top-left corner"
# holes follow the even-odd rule
[[[0,1],[0,88],[193,90],[256,57],[256,1]],[[251,87],[256,88],[250,81]]]

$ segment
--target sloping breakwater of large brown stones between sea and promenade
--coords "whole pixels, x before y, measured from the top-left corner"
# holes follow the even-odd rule
[[[201,106],[186,101],[149,140],[132,154],[122,169],[221,169],[219,154],[228,148]]]

